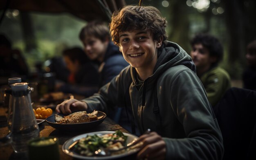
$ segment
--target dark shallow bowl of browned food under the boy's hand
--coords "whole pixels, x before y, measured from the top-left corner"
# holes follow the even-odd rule
[[[101,124],[106,118],[106,114],[101,111],[93,112],[73,112],[70,115],[54,114],[45,119],[52,127],[65,131],[84,131],[92,129]]]

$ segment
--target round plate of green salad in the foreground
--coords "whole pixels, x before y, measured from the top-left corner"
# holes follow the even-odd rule
[[[117,131],[101,131],[91,132],[87,134],[81,134],[67,140],[62,150],[73,158],[79,158],[83,160],[109,160],[124,158],[132,156],[139,151],[139,148],[123,150],[113,155],[99,156],[95,152],[100,149],[110,149],[117,147],[125,147],[128,143],[136,140],[138,137],[128,133],[122,133],[120,130]]]

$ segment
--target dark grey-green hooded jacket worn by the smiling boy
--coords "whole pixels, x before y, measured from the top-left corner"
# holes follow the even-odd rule
[[[124,106],[129,88],[133,116],[140,132],[157,131],[153,113],[154,94],[166,142],[166,159],[220,160],[223,142],[220,128],[200,79],[182,63],[191,57],[177,44],[167,42],[158,49],[152,76],[137,89],[137,72],[131,66],[103,86],[98,94],[84,99],[88,109],[108,111],[111,104]],[[154,89],[157,89],[155,92]]]

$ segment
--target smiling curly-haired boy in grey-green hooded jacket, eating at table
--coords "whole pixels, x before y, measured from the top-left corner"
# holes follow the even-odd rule
[[[112,15],[110,33],[130,66],[97,94],[70,99],[56,111],[132,107],[143,142],[138,159],[221,160],[220,128],[191,57],[166,41],[166,20],[155,7],[126,6]],[[147,129],[153,132],[143,134]]]

